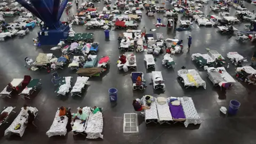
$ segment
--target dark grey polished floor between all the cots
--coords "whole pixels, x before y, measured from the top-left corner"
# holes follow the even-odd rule
[[[81,2],[79,2],[81,3]],[[205,5],[203,12],[205,14],[211,13],[210,5],[212,1]],[[249,10],[255,10],[255,6],[244,2]],[[159,4],[161,5],[161,4]],[[103,3],[96,3],[100,9]],[[75,6],[70,10],[75,12]],[[170,5],[165,5],[170,7]],[[234,15],[234,8],[230,11]],[[4,89],[7,83],[11,82],[13,78],[23,78],[24,75],[30,75],[32,78],[41,78],[42,86],[39,91],[33,94],[31,100],[22,100],[19,95],[13,95],[12,98],[0,99],[0,107],[15,106],[15,111],[19,113],[20,108],[24,103],[29,106],[36,107],[39,110],[40,121],[35,121],[38,129],[28,129],[22,138],[12,136],[10,138],[4,137],[4,130],[11,124],[13,119],[18,115],[12,114],[8,124],[0,127],[0,143],[256,143],[256,98],[255,86],[247,85],[246,83],[237,81],[233,87],[227,92],[220,91],[219,87],[213,87],[209,78],[207,78],[206,71],[199,68],[196,63],[191,60],[193,53],[206,53],[206,47],[211,50],[217,50],[223,56],[228,52],[237,51],[239,54],[250,59],[252,53],[255,51],[255,43],[239,43],[236,37],[221,35],[216,32],[213,27],[198,27],[194,23],[194,28],[191,31],[174,31],[166,30],[165,27],[157,28],[156,31],[149,31],[155,28],[154,24],[157,17],[161,17],[164,23],[167,19],[163,14],[157,14],[155,17],[148,17],[146,11],[143,11],[143,19],[140,22],[142,26],[147,27],[147,33],[163,33],[164,38],[179,38],[183,39],[185,48],[187,47],[187,36],[193,37],[191,50],[185,49],[181,54],[173,55],[174,61],[177,63],[175,69],[166,69],[162,65],[163,55],[159,55],[156,59],[157,71],[162,71],[165,79],[166,89],[164,92],[153,90],[153,86],[149,85],[151,82],[151,71],[146,70],[145,61],[143,61],[144,52],[135,52],[137,55],[137,70],[145,74],[148,87],[145,91],[133,91],[130,73],[119,71],[116,66],[116,61],[119,52],[117,49],[118,34],[124,30],[111,30],[109,41],[105,41],[104,32],[102,29],[85,30],[82,26],[74,26],[74,30],[79,33],[87,31],[94,32],[94,42],[100,42],[100,50],[98,57],[109,55],[110,66],[109,70],[102,77],[92,77],[89,79],[90,86],[83,92],[83,97],[71,97],[70,94],[66,97],[57,97],[54,93],[55,87],[51,83],[51,74],[48,74],[45,69],[31,71],[24,67],[24,58],[30,57],[35,59],[37,54],[53,53],[57,57],[61,52],[51,51],[51,46],[42,46],[39,48],[33,47],[32,38],[36,37],[37,28],[23,37],[13,38],[6,42],[0,43],[0,89]],[[218,13],[215,13],[218,14]],[[184,19],[180,15],[181,19]],[[63,17],[65,19],[65,17]],[[7,19],[8,20],[8,19]],[[9,21],[11,22],[11,21]],[[235,25],[236,28],[242,30],[243,23]],[[73,57],[73,56],[72,56]],[[200,89],[185,89],[177,79],[177,70],[182,66],[187,69],[196,69],[206,82],[206,90]],[[227,69],[229,74],[235,77],[235,68],[230,65]],[[71,71],[65,67],[64,70],[57,70],[60,76],[73,76],[72,86],[76,81],[75,71]],[[53,71],[52,71],[53,72]],[[108,89],[116,87],[118,89],[117,103],[110,103],[108,97]],[[201,125],[189,125],[187,128],[182,124],[172,125],[146,125],[143,118],[139,118],[139,133],[124,134],[123,133],[123,113],[132,113],[132,100],[141,98],[145,94],[153,95],[154,97],[192,97],[199,116],[202,118]],[[230,100],[238,100],[241,102],[241,107],[236,116],[226,116],[220,113],[221,106],[228,107]],[[57,107],[66,106],[73,109],[83,106],[98,106],[103,107],[105,115],[103,127],[103,140],[88,140],[85,137],[73,136],[69,132],[65,137],[48,138],[45,134],[53,122]],[[75,112],[75,110],[73,110]]]

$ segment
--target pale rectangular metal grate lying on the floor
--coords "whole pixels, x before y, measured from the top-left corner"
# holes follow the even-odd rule
[[[139,132],[137,114],[135,114],[135,113],[124,113],[123,130],[124,130],[124,133],[137,133],[137,132]]]

